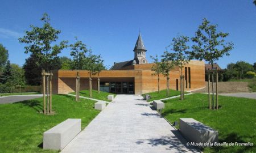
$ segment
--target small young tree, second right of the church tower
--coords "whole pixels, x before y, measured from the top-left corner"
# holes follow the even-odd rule
[[[166,76],[166,96],[170,96],[170,71],[174,69],[174,54],[165,51],[164,54],[162,55],[160,67],[162,69],[162,74]]]

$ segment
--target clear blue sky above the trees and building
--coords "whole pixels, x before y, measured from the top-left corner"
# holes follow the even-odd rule
[[[59,40],[74,42],[77,36],[106,66],[133,59],[133,48],[142,33],[150,55],[161,55],[173,37],[194,36],[203,18],[228,32],[234,43],[230,56],[221,58],[222,68],[230,62],[256,62],[256,6],[253,1],[0,1],[0,43],[9,50],[11,63],[22,66],[29,56],[18,37],[29,25],[41,26],[44,12],[53,27],[60,29]],[[60,56],[69,57],[65,49]]]

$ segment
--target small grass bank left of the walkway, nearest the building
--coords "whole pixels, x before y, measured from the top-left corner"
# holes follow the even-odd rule
[[[93,99],[98,99],[98,100],[111,101],[111,100],[108,100],[108,95],[116,96],[115,94],[112,94],[112,93],[109,93],[109,92],[104,92],[104,91],[101,91],[100,94],[98,94],[97,90],[92,90],[92,92],[93,92],[93,97],[92,98]],[[69,94],[76,95],[76,92],[71,92]],[[89,90],[81,90],[80,91],[80,96],[90,97]]]

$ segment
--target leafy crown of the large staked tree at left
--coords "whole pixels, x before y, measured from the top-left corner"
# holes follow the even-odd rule
[[[61,31],[53,28],[49,20],[49,16],[45,13],[41,18],[43,27],[30,25],[31,31],[26,31],[26,35],[19,38],[19,42],[27,44],[24,47],[25,53],[34,54],[39,59],[36,65],[44,65],[46,70],[52,70],[48,63],[51,63],[68,43],[61,41],[59,45],[53,44],[59,39],[58,35]]]

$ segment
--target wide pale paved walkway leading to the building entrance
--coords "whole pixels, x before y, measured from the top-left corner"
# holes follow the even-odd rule
[[[62,152],[197,152],[137,95],[117,95]]]

